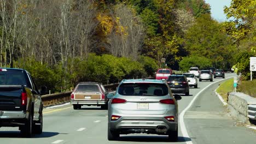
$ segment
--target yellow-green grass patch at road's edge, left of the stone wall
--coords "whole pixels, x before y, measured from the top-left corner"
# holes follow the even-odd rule
[[[228,99],[228,93],[232,92],[234,87],[233,87],[233,79],[229,79],[225,82],[223,82],[218,89],[216,90],[216,92],[222,96],[222,98],[224,99],[224,101],[226,101]]]

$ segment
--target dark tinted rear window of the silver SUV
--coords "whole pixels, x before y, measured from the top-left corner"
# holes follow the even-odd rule
[[[168,94],[168,87],[162,83],[123,83],[118,93],[131,96],[164,96]]]

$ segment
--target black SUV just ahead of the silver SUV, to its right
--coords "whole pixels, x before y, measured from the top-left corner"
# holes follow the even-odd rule
[[[185,75],[170,75],[167,83],[172,90],[172,93],[184,93],[189,95],[189,81]]]

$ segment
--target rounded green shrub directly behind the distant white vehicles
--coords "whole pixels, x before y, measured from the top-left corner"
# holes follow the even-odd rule
[[[211,59],[199,56],[184,57],[182,61],[179,62],[179,67],[182,71],[188,71],[190,67],[206,69],[207,67],[211,67],[211,65]]]

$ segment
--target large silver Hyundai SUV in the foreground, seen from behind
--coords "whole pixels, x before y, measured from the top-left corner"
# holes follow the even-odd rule
[[[108,140],[120,134],[147,133],[178,139],[178,104],[165,80],[123,80],[108,94]]]

